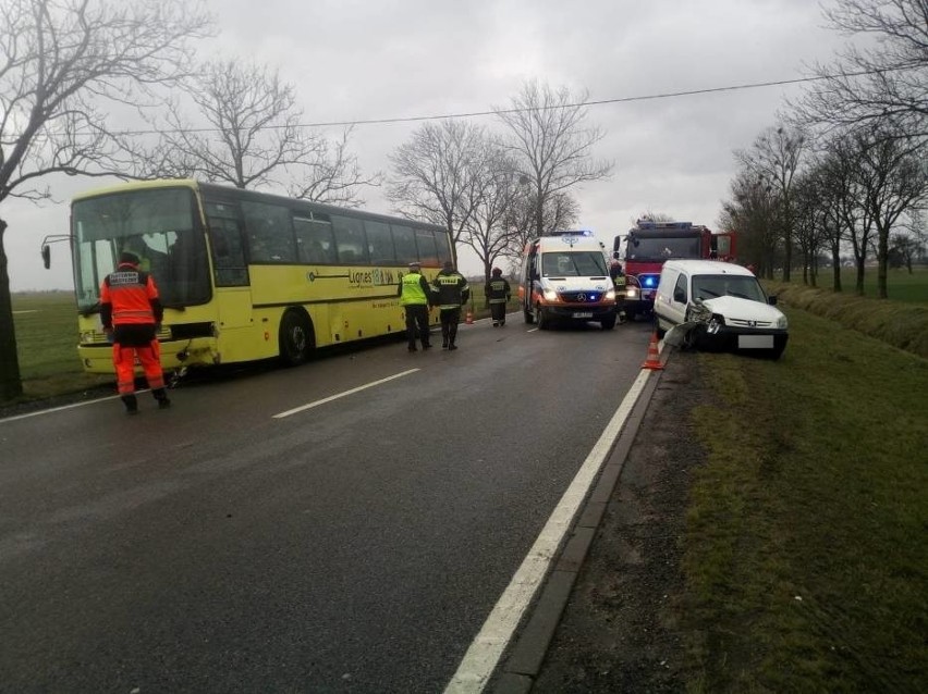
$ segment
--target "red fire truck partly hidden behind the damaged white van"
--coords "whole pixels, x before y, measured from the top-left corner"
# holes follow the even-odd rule
[[[624,249],[624,258],[622,250]],[[671,258],[735,260],[735,235],[713,234],[692,222],[638,220],[626,234],[615,237],[612,257],[624,262],[625,317],[650,314],[660,270]]]

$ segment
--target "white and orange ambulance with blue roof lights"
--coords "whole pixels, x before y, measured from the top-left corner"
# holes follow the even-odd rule
[[[518,299],[526,323],[593,321],[615,327],[615,287],[606,247],[589,231],[553,232],[525,245]]]

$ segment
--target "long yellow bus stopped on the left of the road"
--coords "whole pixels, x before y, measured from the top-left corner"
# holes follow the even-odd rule
[[[186,179],[76,196],[70,240],[90,373],[113,371],[100,284],[123,250],[158,284],[161,361],[181,373],[273,357],[296,365],[317,347],[402,333],[400,276],[419,261],[430,281],[452,257],[440,226]]]

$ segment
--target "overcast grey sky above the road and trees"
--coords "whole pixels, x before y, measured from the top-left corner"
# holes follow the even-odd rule
[[[473,113],[506,107],[527,79],[589,91],[591,101],[797,79],[846,40],[813,0],[209,0],[219,25],[203,58],[280,69],[309,123]],[[799,86],[593,106],[606,136],[594,156],[612,176],[573,190],[579,227],[611,245],[642,212],[717,228],[733,150],[773,125]],[[498,127],[492,116],[481,124]],[[419,123],[357,126],[365,172]],[[337,133],[331,133],[337,135]],[[68,198],[98,179],[56,179],[58,203],[8,200],[11,287],[71,288],[63,245],[41,265],[45,234],[66,233]],[[382,191],[368,209],[390,212]],[[462,270],[479,272],[473,255]]]

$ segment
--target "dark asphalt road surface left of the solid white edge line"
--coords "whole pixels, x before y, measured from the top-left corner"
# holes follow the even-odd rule
[[[0,691],[443,691],[650,335],[533,327],[0,421]]]

